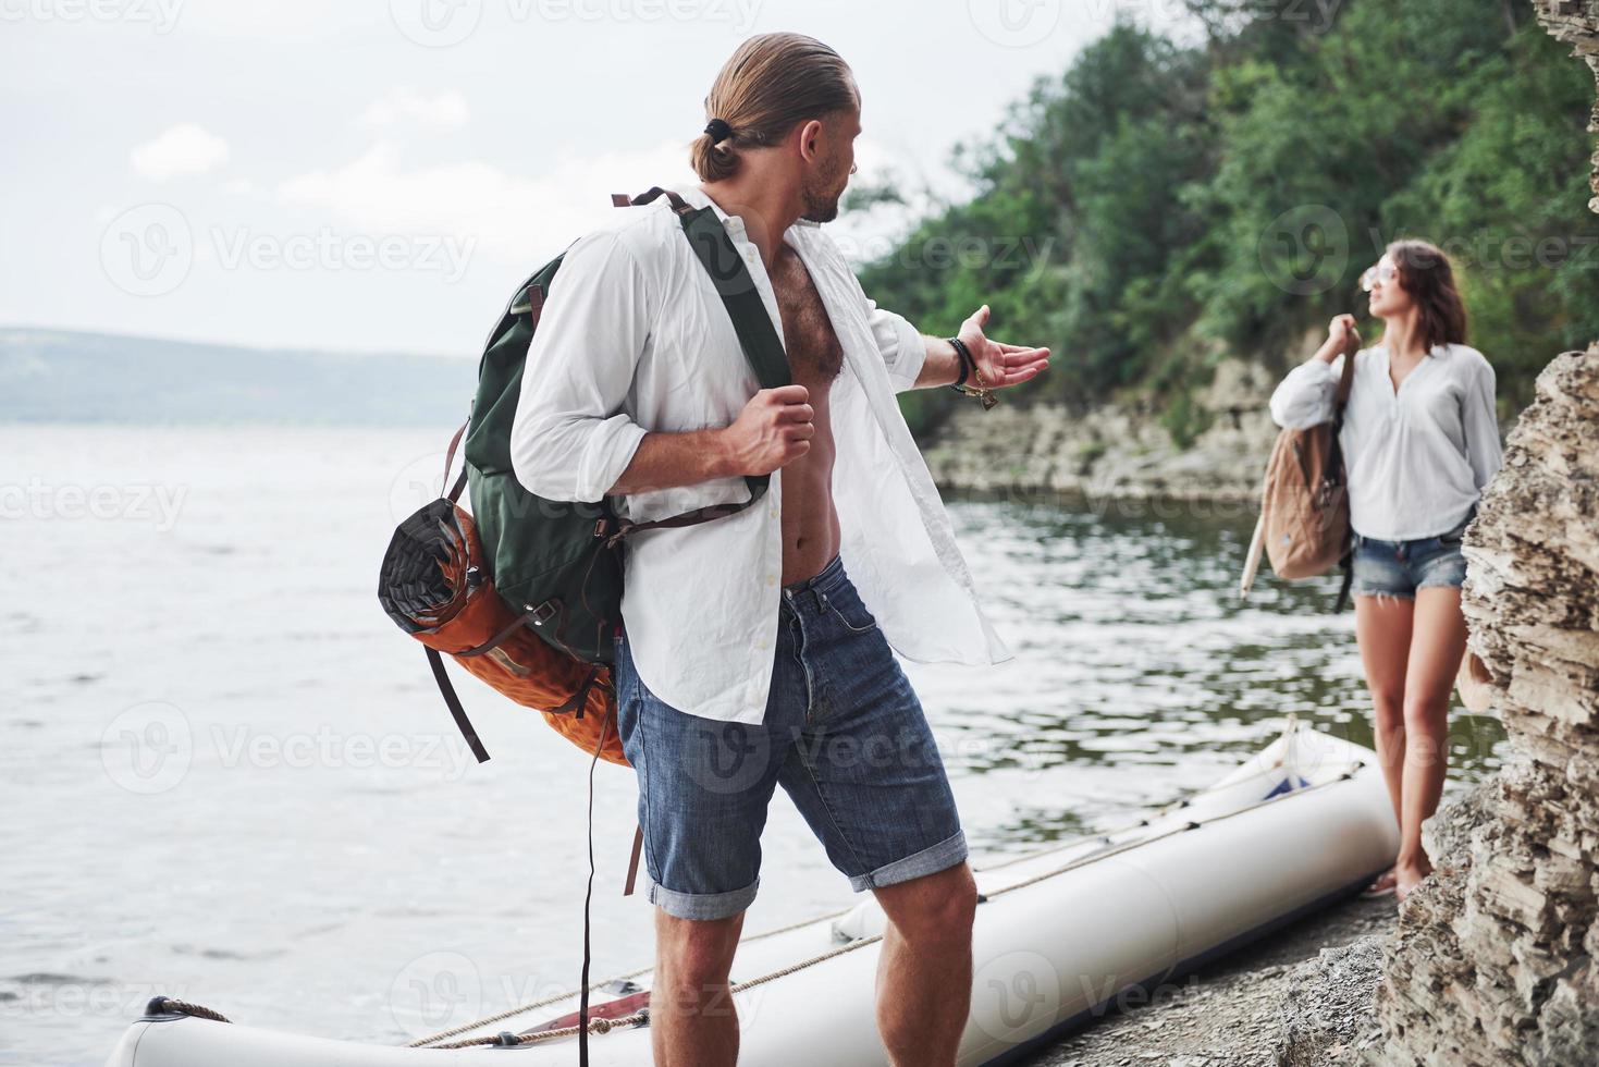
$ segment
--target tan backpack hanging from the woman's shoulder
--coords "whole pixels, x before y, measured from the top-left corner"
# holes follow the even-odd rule
[[[1282,430],[1266,462],[1260,494],[1260,522],[1249,545],[1238,595],[1247,597],[1265,547],[1271,569],[1289,581],[1326,574],[1343,566],[1343,587],[1334,611],[1350,598],[1351,537],[1350,488],[1345,478],[1338,432],[1354,381],[1354,346],[1343,354],[1343,374],[1332,405],[1332,419],[1303,430]]]

